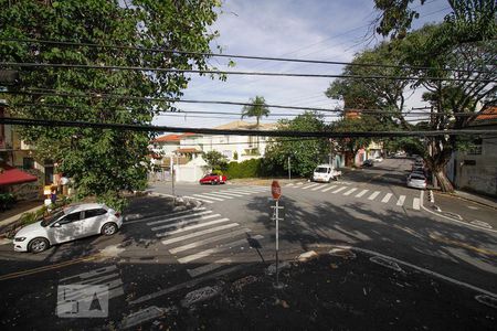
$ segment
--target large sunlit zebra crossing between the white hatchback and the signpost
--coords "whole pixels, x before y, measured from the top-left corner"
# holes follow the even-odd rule
[[[264,238],[262,235],[252,235],[250,228],[204,206],[169,214],[167,217],[151,217],[146,224],[178,263],[195,264],[194,268],[187,269],[192,278],[229,268],[233,258],[225,255],[232,256],[235,250],[250,247],[248,239]],[[223,256],[220,257],[220,254]]]

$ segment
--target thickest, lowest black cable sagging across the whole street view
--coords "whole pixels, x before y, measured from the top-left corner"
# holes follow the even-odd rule
[[[368,131],[368,132],[334,132],[334,131],[292,131],[292,130],[241,130],[241,129],[210,129],[210,128],[180,128],[169,126],[147,126],[130,124],[105,124],[76,120],[47,120],[30,118],[1,117],[0,124],[19,126],[41,126],[41,127],[77,127],[96,129],[131,130],[142,132],[191,132],[203,135],[224,136],[258,136],[258,137],[315,137],[315,138],[361,138],[361,137],[434,137],[434,136],[480,136],[497,135],[497,130],[431,130],[431,131]]]

